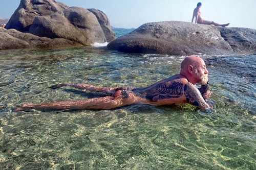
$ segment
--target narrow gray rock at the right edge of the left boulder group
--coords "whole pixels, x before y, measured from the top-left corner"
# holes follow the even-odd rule
[[[88,9],[88,10],[90,12],[92,12],[97,17],[100,27],[105,34],[106,41],[110,42],[110,41],[113,41],[114,39],[116,39],[116,33],[111,30],[110,20],[106,16],[106,14],[104,14],[102,11],[96,10],[96,9]]]

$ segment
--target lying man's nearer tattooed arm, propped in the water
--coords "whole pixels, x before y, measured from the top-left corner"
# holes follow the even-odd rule
[[[184,94],[188,103],[194,106],[198,106],[200,109],[212,109],[212,105],[207,103],[200,91],[191,83],[186,83],[184,86]]]

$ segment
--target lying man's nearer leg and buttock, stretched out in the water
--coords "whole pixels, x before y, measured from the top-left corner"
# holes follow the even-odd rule
[[[13,111],[22,111],[29,108],[34,109],[43,109],[43,108],[52,108],[52,109],[70,109],[70,108],[79,108],[79,109],[113,109],[116,107],[122,107],[125,105],[137,104],[138,97],[129,93],[126,90],[118,90],[112,96],[105,96],[102,98],[93,98],[87,100],[77,100],[77,101],[65,101],[65,102],[56,102],[56,103],[41,103],[41,104],[23,104],[22,107],[15,108]]]

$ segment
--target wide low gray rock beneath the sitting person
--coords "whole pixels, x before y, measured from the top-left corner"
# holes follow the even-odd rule
[[[248,49],[256,52],[255,35],[252,29],[221,28],[182,21],[153,22],[110,42],[108,48],[128,53],[169,55],[230,54],[247,52]]]

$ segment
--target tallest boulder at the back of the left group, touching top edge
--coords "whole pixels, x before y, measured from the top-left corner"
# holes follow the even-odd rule
[[[28,32],[36,16],[46,16],[68,8],[55,0],[21,0],[5,28]]]

